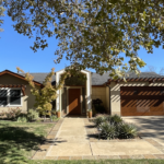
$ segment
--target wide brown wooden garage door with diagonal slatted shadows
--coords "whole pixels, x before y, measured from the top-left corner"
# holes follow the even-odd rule
[[[164,115],[163,86],[121,86],[121,116]]]

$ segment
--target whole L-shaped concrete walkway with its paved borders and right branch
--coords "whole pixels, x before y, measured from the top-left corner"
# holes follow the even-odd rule
[[[98,140],[87,118],[65,118],[52,128],[33,157],[38,159],[164,159],[164,145],[152,139]]]

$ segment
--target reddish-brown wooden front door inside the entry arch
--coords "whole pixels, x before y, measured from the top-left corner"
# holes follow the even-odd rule
[[[69,89],[69,114],[81,115],[80,89]]]

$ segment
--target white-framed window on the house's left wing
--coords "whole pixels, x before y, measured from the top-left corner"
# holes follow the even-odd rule
[[[0,89],[0,106],[21,106],[21,89]]]

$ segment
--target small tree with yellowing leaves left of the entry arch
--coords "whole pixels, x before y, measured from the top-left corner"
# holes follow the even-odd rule
[[[23,70],[20,68],[16,68],[17,71],[24,73]],[[55,101],[58,96],[57,91],[61,90],[63,84],[65,84],[65,79],[69,74],[68,71],[66,71],[61,78],[58,84],[51,85],[51,78],[55,74],[55,69],[51,69],[51,72],[47,74],[45,81],[43,82],[44,87],[38,90],[34,82],[33,79],[34,77],[31,75],[30,73],[25,73],[25,79],[28,81],[30,85],[32,86],[31,93],[35,96],[35,107],[36,109],[44,116],[46,115],[51,115],[51,102]]]

